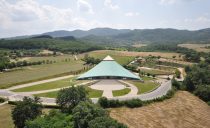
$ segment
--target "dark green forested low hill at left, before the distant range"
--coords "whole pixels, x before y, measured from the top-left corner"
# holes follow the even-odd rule
[[[49,49],[52,51],[61,52],[87,52],[92,50],[102,49],[101,46],[91,43],[85,43],[74,39],[67,38],[52,38],[50,36],[37,36],[27,39],[0,40],[0,49],[11,50],[31,50],[31,49]]]

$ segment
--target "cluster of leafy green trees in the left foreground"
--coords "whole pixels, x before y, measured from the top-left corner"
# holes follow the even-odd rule
[[[42,115],[39,98],[19,101],[12,111],[17,128],[127,128],[109,117],[107,110],[93,104],[84,87],[71,87],[58,93],[60,110]]]

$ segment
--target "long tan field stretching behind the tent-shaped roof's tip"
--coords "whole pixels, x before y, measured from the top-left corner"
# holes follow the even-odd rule
[[[174,53],[174,52],[130,52],[130,51],[113,51],[113,50],[98,50],[98,51],[93,51],[89,52],[89,55],[92,56],[99,56],[101,58],[105,57],[106,55],[111,55],[113,56],[114,59],[117,60],[114,56],[124,56],[124,57],[136,57],[136,56],[141,56],[141,57],[146,57],[146,56],[161,56],[163,58],[173,58],[173,56],[176,56],[178,59],[178,56],[181,55],[179,53]]]

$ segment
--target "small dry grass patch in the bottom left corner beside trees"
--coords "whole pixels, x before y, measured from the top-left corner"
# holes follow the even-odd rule
[[[12,106],[8,104],[0,106],[0,128],[14,128],[11,111]]]

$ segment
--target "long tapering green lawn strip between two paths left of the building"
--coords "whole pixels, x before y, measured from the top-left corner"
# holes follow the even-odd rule
[[[80,82],[81,81],[75,80],[75,77],[72,77],[72,78],[67,78],[67,79],[63,79],[63,80],[58,80],[58,81],[38,84],[38,85],[34,85],[34,86],[29,86],[29,87],[25,87],[25,88],[19,88],[19,89],[15,89],[15,90],[12,90],[12,91],[14,91],[14,92],[41,91],[41,90],[48,90],[48,89],[55,89],[55,88],[72,86],[72,85],[78,84]],[[82,81],[82,82],[84,82],[84,81]]]

